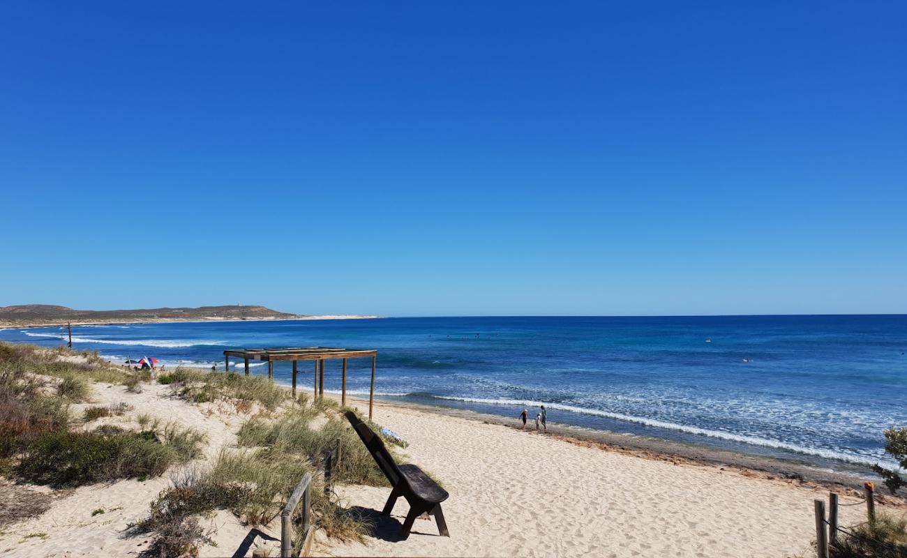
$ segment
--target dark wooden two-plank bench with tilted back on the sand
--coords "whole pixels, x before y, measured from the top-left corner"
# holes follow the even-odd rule
[[[394,509],[397,498],[403,496],[409,503],[409,513],[406,514],[406,520],[403,528],[400,530],[400,536],[406,538],[413,528],[415,518],[422,514],[434,515],[434,521],[438,524],[438,533],[449,537],[451,534],[447,531],[447,524],[444,523],[444,512],[441,511],[441,503],[447,499],[447,491],[435,483],[428,475],[422,472],[422,469],[415,465],[397,465],[394,457],[387,451],[381,436],[377,436],[366,423],[359,420],[355,413],[346,411],[346,420],[356,430],[356,434],[366,445],[368,453],[375,459],[375,463],[385,474],[390,482],[392,489],[391,495],[387,498],[385,509],[381,511],[382,515],[390,515]]]

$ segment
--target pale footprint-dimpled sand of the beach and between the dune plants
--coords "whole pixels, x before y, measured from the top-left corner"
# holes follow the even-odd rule
[[[134,420],[140,413],[177,421],[207,433],[209,458],[235,445],[246,418],[227,403],[172,398],[166,386],[131,394],[122,386],[95,384],[94,392],[93,405],[133,406],[126,416],[102,421]],[[367,402],[354,405],[367,409]],[[795,482],[711,465],[674,465],[418,408],[378,402],[375,420],[402,436],[409,445],[400,453],[451,494],[444,502],[451,537],[438,536],[434,520],[420,519],[413,534],[399,540],[407,511],[400,499],[390,518],[379,519],[375,537],[346,544],[317,537],[317,555],[808,556],[813,500],[827,496],[824,489]],[[5,526],[0,554],[135,555],[151,537],[127,537],[126,524],[147,514],[151,499],[169,483],[164,475],[56,491],[49,511]],[[346,505],[376,515],[390,489],[339,486],[336,492]],[[842,497],[842,503],[856,501]],[[93,514],[98,509],[104,513]],[[842,507],[841,524],[859,523],[863,514],[863,506]],[[251,531],[227,512],[205,522],[217,529],[217,546],[202,547],[201,556],[232,555]],[[275,527],[263,532],[278,538]],[[278,543],[261,537],[248,555],[261,545],[278,555]]]

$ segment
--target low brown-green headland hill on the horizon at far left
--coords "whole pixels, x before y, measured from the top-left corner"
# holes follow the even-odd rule
[[[188,321],[203,319],[293,319],[296,314],[263,306],[202,306],[199,308],[144,308],[136,310],[76,310],[50,304],[0,307],[0,323]]]

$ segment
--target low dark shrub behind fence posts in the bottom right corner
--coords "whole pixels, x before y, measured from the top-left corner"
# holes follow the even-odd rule
[[[834,558],[904,558],[907,556],[907,520],[876,514],[875,521],[838,534],[829,548]]]

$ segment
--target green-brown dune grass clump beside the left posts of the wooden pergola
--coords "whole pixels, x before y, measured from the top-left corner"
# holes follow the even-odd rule
[[[217,399],[254,401],[273,411],[288,399],[287,390],[274,385],[267,377],[235,372],[204,372],[198,368],[178,367],[167,375],[165,382],[177,395],[196,403]]]

